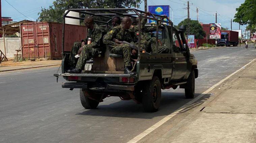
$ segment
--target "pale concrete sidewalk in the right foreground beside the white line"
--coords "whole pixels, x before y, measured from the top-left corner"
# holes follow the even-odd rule
[[[138,143],[256,143],[256,61]]]

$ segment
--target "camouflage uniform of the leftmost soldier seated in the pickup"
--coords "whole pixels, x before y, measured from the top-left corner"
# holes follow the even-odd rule
[[[87,37],[92,38],[91,44],[84,45],[82,53],[78,59],[76,68],[83,69],[86,61],[92,58],[94,55],[98,53],[98,51],[101,51],[104,47],[102,38],[106,34],[106,31],[103,27],[98,26],[97,24],[94,24],[93,29],[88,29]]]

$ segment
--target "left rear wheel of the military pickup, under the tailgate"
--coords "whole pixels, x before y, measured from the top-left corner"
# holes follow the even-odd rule
[[[92,93],[90,93],[90,94],[92,94]],[[82,91],[82,89],[80,89],[80,101],[81,101],[82,106],[85,109],[95,109],[95,108],[97,108],[97,106],[99,104],[99,102],[86,97],[84,95],[84,92]]]

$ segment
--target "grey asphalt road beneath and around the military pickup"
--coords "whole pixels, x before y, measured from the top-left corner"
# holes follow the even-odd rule
[[[241,47],[191,53],[198,59],[197,95],[256,57],[256,49]],[[87,110],[79,90],[61,88],[62,78],[56,83],[57,69],[0,73],[0,143],[125,143],[191,100],[181,89],[164,90],[155,113],[117,97]]]

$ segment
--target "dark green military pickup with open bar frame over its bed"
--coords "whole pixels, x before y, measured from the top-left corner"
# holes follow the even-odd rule
[[[134,100],[141,103],[147,112],[158,111],[161,101],[161,90],[173,88],[174,90],[184,88],[186,98],[194,98],[195,78],[198,77],[197,60],[190,53],[188,44],[184,37],[186,28],[173,27],[173,23],[159,20],[161,15],[152,14],[149,17],[143,16],[144,11],[133,8],[119,9],[69,9],[63,16],[80,19],[83,18],[67,16],[69,11],[82,14],[98,16],[107,21],[96,21],[105,24],[106,29],[111,21],[111,16],[120,15],[139,17],[157,21],[157,31],[149,33],[148,36],[157,38],[157,47],[167,46],[169,53],[142,53],[138,50],[137,59],[133,59],[135,75],[124,74],[124,63],[122,55],[111,54],[108,46],[99,56],[94,57],[94,62],[88,70],[88,64],[81,74],[69,74],[68,57],[70,51],[64,51],[64,30],[63,25],[63,60],[62,73],[55,73],[54,76],[63,76],[67,82],[62,83],[63,88],[80,88],[81,104],[86,109],[95,109],[99,102],[111,96],[120,97],[122,100]],[[165,23],[159,26],[159,23]],[[65,22],[63,22],[64,24]],[[146,27],[152,24],[146,24]],[[140,29],[140,25],[138,25]],[[141,32],[139,30],[139,37]],[[139,48],[140,48],[140,38]],[[89,66],[89,67],[90,67]],[[170,95],[171,96],[171,95]]]

